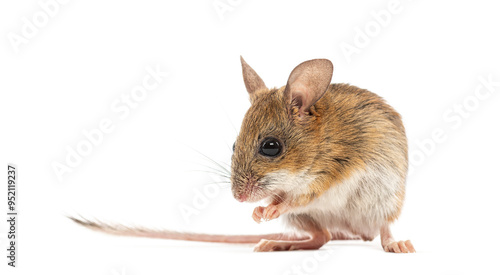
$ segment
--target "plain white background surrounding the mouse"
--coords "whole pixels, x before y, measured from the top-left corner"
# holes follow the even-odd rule
[[[220,16],[214,3],[233,6]],[[401,0],[394,12],[389,3],[68,1],[43,25],[38,1],[2,1],[0,163],[4,175],[7,163],[18,165],[20,221],[19,267],[1,256],[1,273],[498,274],[500,87],[489,91],[479,79],[500,82],[499,7]],[[392,11],[385,26],[374,16],[383,11]],[[13,44],[23,18],[43,26]],[[357,29],[369,35],[364,43]],[[356,53],[345,54],[346,44]],[[107,236],[65,218],[229,234],[283,230],[279,221],[254,223],[257,204],[238,203],[229,184],[207,189],[217,177],[194,171],[215,167],[197,151],[230,162],[249,106],[240,54],[270,87],[284,85],[300,62],[328,58],[333,82],[367,88],[402,114],[415,169],[393,233],[418,253],[384,253],[377,238],[259,254],[247,245]],[[156,66],[168,77],[121,119],[111,105]],[[102,119],[113,131],[58,180],[53,163],[65,164],[67,148]],[[431,144],[435,131],[444,137]],[[193,204],[206,190],[218,193]],[[180,211],[195,206],[197,214]],[[7,224],[0,229],[6,255]]]

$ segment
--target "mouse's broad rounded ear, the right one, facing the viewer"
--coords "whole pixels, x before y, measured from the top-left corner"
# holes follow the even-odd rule
[[[326,92],[332,80],[333,64],[328,59],[313,59],[302,62],[288,77],[284,91],[285,99],[299,108],[304,116]]]

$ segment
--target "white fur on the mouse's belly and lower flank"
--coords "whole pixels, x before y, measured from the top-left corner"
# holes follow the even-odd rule
[[[332,232],[347,231],[373,239],[388,217],[398,211],[396,194],[404,188],[404,181],[392,169],[367,166],[284,218],[290,223],[290,215],[307,214]]]

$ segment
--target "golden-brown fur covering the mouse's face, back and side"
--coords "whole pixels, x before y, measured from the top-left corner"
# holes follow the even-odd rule
[[[349,84],[331,84],[311,112],[299,117],[297,108],[285,98],[284,89],[260,91],[245,115],[241,127],[244,134],[238,137],[232,158],[235,193],[244,191],[248,179],[256,184],[266,174],[284,167],[291,172],[307,169],[318,176],[308,193],[289,201],[294,206],[309,203],[368,163],[392,163],[405,177],[408,158],[404,127],[400,115],[382,98]],[[258,146],[268,136],[284,143],[286,152],[280,157],[259,155]],[[400,207],[403,197],[404,185],[398,192]]]

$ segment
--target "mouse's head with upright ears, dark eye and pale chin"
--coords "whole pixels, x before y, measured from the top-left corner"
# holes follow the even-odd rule
[[[268,89],[243,58],[241,65],[252,105],[234,144],[234,197],[253,202],[304,188],[319,144],[313,105],[328,89],[332,63],[303,62],[279,89]]]

